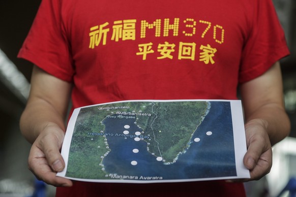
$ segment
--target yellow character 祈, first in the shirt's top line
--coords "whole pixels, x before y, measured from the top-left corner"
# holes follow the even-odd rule
[[[94,49],[95,46],[99,46],[102,36],[103,36],[103,45],[106,45],[106,38],[107,38],[107,32],[109,31],[109,28],[105,28],[108,26],[108,22],[105,22],[104,24],[101,24],[100,26],[93,26],[91,27],[90,32],[90,48]]]

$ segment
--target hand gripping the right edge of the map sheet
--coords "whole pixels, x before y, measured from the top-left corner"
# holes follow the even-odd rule
[[[259,180],[268,174],[272,167],[272,146],[267,133],[267,122],[253,119],[245,124],[247,153],[244,165],[250,170],[251,178],[244,181]]]

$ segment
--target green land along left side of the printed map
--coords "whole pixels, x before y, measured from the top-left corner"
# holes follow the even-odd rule
[[[71,141],[66,176],[85,179],[104,176],[99,164],[102,161],[101,155],[108,151],[104,144],[105,138],[87,135],[88,132],[100,133],[104,130],[101,121],[96,108],[80,110]]]

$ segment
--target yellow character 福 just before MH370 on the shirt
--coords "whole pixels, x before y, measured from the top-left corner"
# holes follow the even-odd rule
[[[111,40],[115,40],[115,42],[118,42],[119,39],[136,40],[136,21],[137,20],[114,21]]]

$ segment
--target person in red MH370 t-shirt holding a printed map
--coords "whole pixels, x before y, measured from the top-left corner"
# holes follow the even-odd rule
[[[242,181],[267,174],[272,146],[289,134],[279,64],[288,54],[271,0],[43,0],[18,54],[35,64],[20,119],[32,143],[29,169],[57,186],[57,196],[244,196]],[[72,112],[123,100],[238,95],[248,180],[122,184],[55,176],[65,168],[70,99]]]

